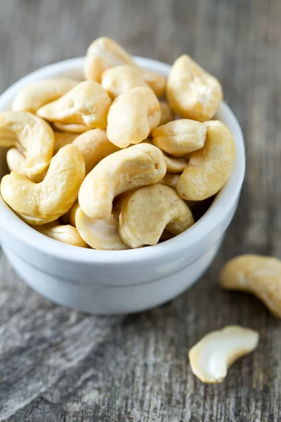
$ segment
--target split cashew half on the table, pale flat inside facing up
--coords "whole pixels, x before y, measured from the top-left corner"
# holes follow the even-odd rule
[[[191,370],[203,383],[221,383],[230,365],[253,352],[258,343],[259,333],[250,328],[226,326],[212,331],[190,350]]]

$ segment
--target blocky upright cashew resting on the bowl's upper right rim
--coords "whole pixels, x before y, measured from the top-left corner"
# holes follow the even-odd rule
[[[174,113],[199,122],[213,118],[223,99],[218,79],[187,54],[179,57],[171,68],[166,94]]]

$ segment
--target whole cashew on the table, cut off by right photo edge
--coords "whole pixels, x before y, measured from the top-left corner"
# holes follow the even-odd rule
[[[252,293],[281,318],[281,262],[274,257],[240,255],[221,269],[222,288]]]

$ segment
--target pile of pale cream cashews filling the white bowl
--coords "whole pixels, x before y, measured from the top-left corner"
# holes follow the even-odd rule
[[[84,248],[181,234],[235,162],[232,134],[211,120],[221,84],[187,55],[166,80],[106,37],[89,46],[84,74],[29,84],[0,113],[11,170],[1,196],[37,231]]]

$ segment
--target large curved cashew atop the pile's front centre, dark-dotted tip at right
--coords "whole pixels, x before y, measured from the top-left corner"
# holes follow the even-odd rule
[[[85,177],[79,205],[88,217],[108,219],[119,193],[156,183],[166,173],[162,152],[148,143],[117,151],[100,161]]]

